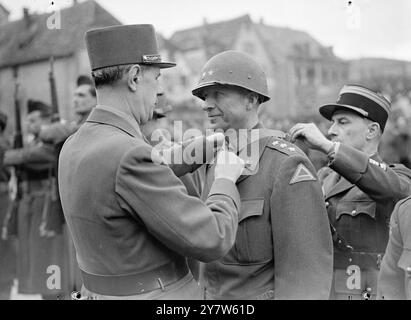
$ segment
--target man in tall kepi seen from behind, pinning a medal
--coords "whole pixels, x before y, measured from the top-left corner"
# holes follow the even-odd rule
[[[86,44],[97,106],[65,142],[59,161],[61,202],[82,294],[201,298],[186,258],[218,259],[233,245],[240,206],[234,182],[244,164],[233,153],[220,152],[218,179],[206,203],[189,196],[140,130],[152,119],[160,70],[175,66],[158,53],[153,26],[90,30]]]

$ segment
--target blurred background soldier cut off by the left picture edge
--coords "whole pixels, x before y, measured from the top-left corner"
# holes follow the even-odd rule
[[[10,149],[10,143],[4,137],[4,130],[7,125],[7,115],[0,111],[0,230],[3,231],[7,210],[10,205],[8,181],[10,172],[3,166],[4,153]],[[16,239],[0,237],[0,300],[10,298],[11,287],[16,277]]]

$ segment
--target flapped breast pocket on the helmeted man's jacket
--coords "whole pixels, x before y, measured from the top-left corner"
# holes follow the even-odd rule
[[[257,264],[271,258],[271,223],[264,215],[264,198],[242,199],[236,241],[225,262]]]

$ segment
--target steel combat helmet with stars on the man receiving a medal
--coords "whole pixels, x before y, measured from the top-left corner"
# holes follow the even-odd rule
[[[258,93],[261,102],[270,100],[267,77],[263,69],[249,55],[239,51],[224,51],[208,60],[192,94],[204,100],[204,88],[215,85],[241,87]]]

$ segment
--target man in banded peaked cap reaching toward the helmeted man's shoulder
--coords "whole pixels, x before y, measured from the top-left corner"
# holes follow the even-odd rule
[[[318,175],[334,240],[332,299],[374,299],[395,203],[411,193],[411,171],[378,155],[390,113],[381,94],[358,85],[342,88],[336,103],[320,107],[331,121],[327,139],[314,124],[296,124],[291,140],[328,156]]]

